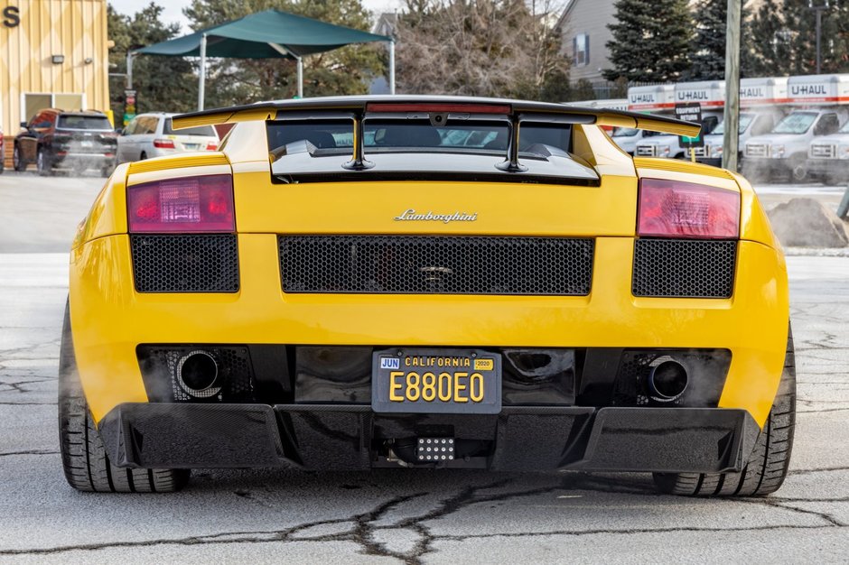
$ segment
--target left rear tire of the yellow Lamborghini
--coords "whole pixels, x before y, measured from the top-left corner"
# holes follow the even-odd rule
[[[67,302],[59,353],[59,446],[65,478],[77,490],[171,493],[189,481],[188,469],[117,468],[109,463],[79,383]]]

